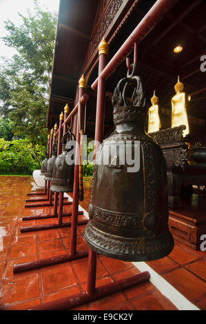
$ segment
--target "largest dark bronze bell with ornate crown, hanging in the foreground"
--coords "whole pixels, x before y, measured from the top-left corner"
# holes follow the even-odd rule
[[[150,261],[167,256],[174,241],[167,225],[165,158],[145,133],[145,96],[136,65],[131,67],[132,73],[119,81],[112,96],[115,130],[96,152],[84,239],[107,257]],[[128,172],[131,163],[121,163],[129,145],[134,163],[134,149],[139,148],[135,172]],[[103,159],[108,163],[100,163]]]

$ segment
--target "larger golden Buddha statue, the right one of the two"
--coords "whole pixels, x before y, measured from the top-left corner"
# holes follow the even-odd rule
[[[189,123],[187,119],[186,110],[186,96],[183,83],[180,82],[178,77],[178,82],[174,85],[176,94],[171,99],[172,103],[172,128],[180,125],[185,125],[186,129],[183,130],[183,137],[189,134]],[[189,98],[188,98],[189,99]]]

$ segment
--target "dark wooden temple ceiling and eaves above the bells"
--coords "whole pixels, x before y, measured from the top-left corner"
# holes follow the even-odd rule
[[[129,19],[112,40],[109,59],[155,2],[154,0],[138,1]],[[70,7],[72,10],[70,8],[62,10],[61,8],[66,8],[65,3],[70,3],[70,6],[74,5]],[[91,5],[87,6],[85,3],[91,3]],[[75,97],[76,85],[81,75],[83,59],[92,32],[96,3],[98,1],[61,0],[51,98],[60,96],[65,99],[67,97],[74,99]],[[162,126],[163,128],[170,126],[171,98],[175,94],[174,85],[179,75],[185,85],[185,92],[192,94],[192,101],[187,106],[189,123],[192,125],[193,132],[200,133],[203,140],[206,122],[206,72],[200,71],[200,57],[206,54],[205,12],[205,0],[179,0],[172,10],[165,14],[161,22],[138,44],[138,75],[141,76],[143,82],[148,108],[150,98],[156,90],[161,108]],[[175,54],[173,49],[178,43],[183,45],[183,51]],[[132,61],[132,54],[130,58]],[[126,72],[125,62],[123,62],[106,83],[105,136],[113,127],[110,97],[116,83],[125,76]],[[87,93],[91,97],[87,103],[88,136],[94,136],[96,94],[90,90],[90,85],[96,79],[97,73],[96,67],[88,81]],[[55,117],[57,110],[59,114],[60,109],[50,99],[48,126],[56,122],[52,115]]]

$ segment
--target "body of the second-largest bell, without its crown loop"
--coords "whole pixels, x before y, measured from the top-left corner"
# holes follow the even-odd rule
[[[56,157],[52,172],[52,185],[50,190],[53,192],[72,192],[74,185],[74,164],[68,165],[66,155],[68,151]]]

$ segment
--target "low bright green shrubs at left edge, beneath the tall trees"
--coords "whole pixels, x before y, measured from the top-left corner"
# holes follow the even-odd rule
[[[32,174],[41,168],[45,146],[28,139],[0,139],[0,174]]]

